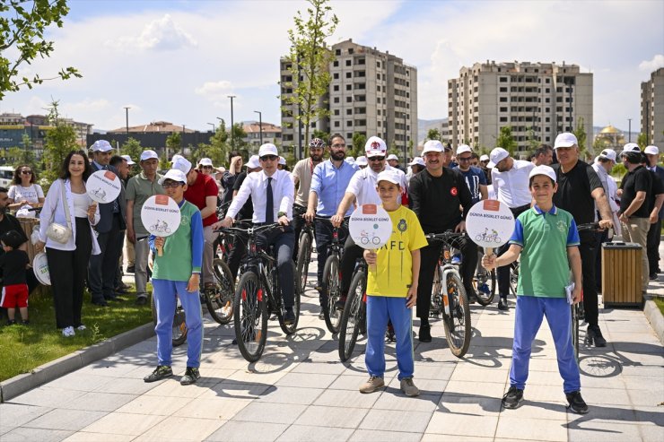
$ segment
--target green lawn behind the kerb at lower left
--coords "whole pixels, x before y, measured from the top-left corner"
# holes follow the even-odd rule
[[[56,360],[93,343],[116,336],[139,325],[152,322],[150,304],[135,305],[135,293],[122,296],[124,302],[110,307],[92,305],[90,294],[83,300],[83,324],[87,330],[65,338],[56,329],[53,300],[48,295],[33,295],[29,301],[30,325],[0,324],[0,381]],[[16,312],[17,322],[18,311]]]

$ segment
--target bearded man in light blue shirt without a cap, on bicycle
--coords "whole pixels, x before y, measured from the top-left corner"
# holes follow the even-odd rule
[[[325,218],[334,215],[344,198],[346,187],[357,170],[357,166],[345,161],[344,137],[340,134],[332,135],[329,140],[329,160],[319,163],[313,169],[307,213],[304,215],[306,220],[313,221],[314,214]],[[351,212],[352,208],[348,207],[344,214],[350,215]],[[322,287],[323,268],[328,260],[328,247],[332,242],[332,226],[329,222],[316,221],[314,231],[318,252],[316,286]],[[347,234],[348,231],[342,227],[339,231],[339,241],[344,241]]]

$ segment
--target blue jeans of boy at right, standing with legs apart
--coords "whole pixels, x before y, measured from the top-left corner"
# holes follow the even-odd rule
[[[564,393],[581,390],[581,375],[574,357],[572,345],[572,314],[565,298],[536,298],[517,296],[517,312],[514,320],[514,344],[512,346],[510,385],[520,390],[526,387],[530,351],[542,318],[554,336],[558,372],[563,377]]]

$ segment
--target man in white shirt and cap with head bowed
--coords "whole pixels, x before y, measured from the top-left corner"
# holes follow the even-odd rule
[[[494,184],[494,192],[498,201],[506,204],[514,218],[530,208],[532,196],[529,190],[530,170],[535,168],[535,164],[530,161],[514,160],[510,152],[502,147],[496,147],[489,155],[489,164],[487,167],[491,170],[491,182]],[[509,244],[498,248],[498,256],[501,256]],[[507,295],[510,293],[510,266],[498,267],[498,308],[508,310]]]

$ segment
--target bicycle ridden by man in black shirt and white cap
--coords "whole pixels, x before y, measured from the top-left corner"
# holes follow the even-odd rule
[[[446,231],[444,233],[430,233],[426,238],[441,240],[453,247],[453,241],[463,236],[462,233]],[[470,346],[470,306],[466,290],[461,282],[461,276],[456,265],[445,260],[444,251],[441,254],[433,273],[432,305],[440,305],[445,337],[450,351],[454,356],[461,358]]]

